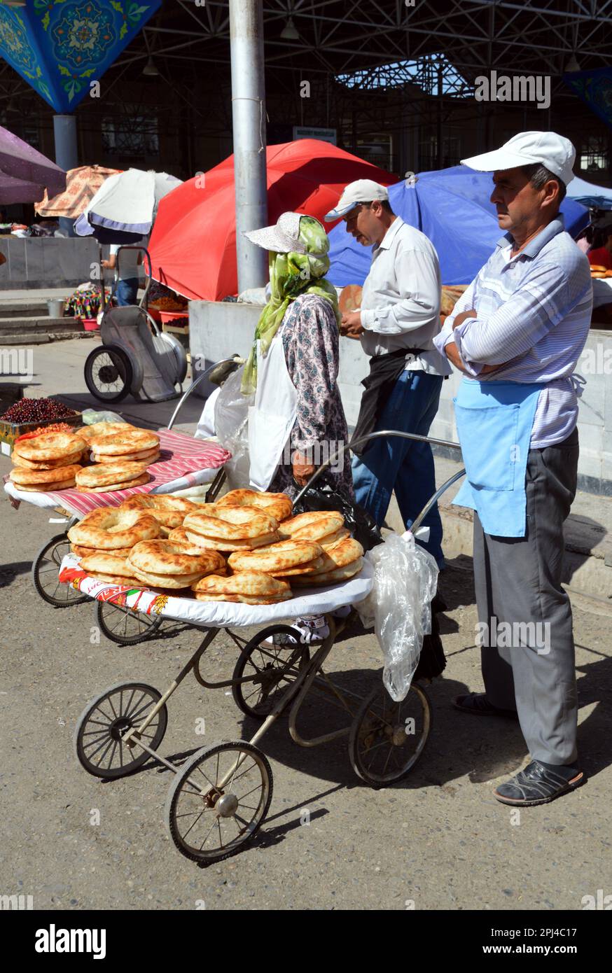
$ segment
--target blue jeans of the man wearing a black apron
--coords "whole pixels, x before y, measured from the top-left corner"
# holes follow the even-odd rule
[[[402,372],[377,422],[379,429],[397,429],[426,436],[438,412],[442,376]],[[434,457],[429,443],[389,437],[375,439],[363,456],[353,456],[353,484],[357,503],[380,526],[395,490],[402,520],[409,528],[436,491]],[[444,567],[442,520],[434,504],[423,520],[429,540],[423,547]]]

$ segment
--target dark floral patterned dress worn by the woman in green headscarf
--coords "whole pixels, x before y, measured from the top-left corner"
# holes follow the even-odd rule
[[[290,436],[291,452],[300,451],[316,467],[348,442],[338,387],[340,333],[336,315],[325,298],[306,294],[287,308],[283,325],[285,361],[298,393],[298,416]],[[344,496],[353,498],[348,451],[323,474],[323,480]],[[291,497],[300,488],[294,483],[290,464],[278,467],[269,486],[271,492],[284,492]]]

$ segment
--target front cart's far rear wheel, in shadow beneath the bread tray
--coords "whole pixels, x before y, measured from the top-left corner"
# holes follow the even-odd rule
[[[234,680],[252,676],[252,682],[234,682],[232,695],[239,709],[247,716],[263,719],[268,716],[287,687],[295,682],[299,672],[308,665],[307,645],[268,645],[270,635],[293,635],[288,625],[270,625],[247,642],[234,667]]]

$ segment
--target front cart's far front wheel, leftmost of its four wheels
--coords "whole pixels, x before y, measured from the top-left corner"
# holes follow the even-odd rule
[[[126,732],[143,722],[162,694],[143,682],[120,682],[87,704],[74,734],[79,763],[88,774],[112,780],[142,767],[150,754],[137,742],[123,742]],[[165,703],[142,734],[152,750],[162,742],[168,722]]]

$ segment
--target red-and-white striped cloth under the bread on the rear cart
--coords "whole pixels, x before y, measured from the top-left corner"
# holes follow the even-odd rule
[[[231,456],[228,450],[215,443],[193,439],[180,432],[159,429],[157,434],[160,437],[162,455],[157,463],[149,467],[151,480],[148,484],[133,486],[130,489],[112,490],[110,493],[82,493],[78,489],[49,490],[44,493],[20,491],[19,500],[36,503],[34,497],[44,497],[45,506],[63,507],[77,517],[85,517],[96,507],[118,507],[133,493],[149,493],[157,487],[171,484],[178,479],[185,480],[182,486],[195,486],[198,483],[197,474],[200,470],[217,470]],[[5,483],[7,480],[8,478],[5,477]]]

